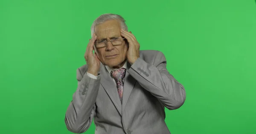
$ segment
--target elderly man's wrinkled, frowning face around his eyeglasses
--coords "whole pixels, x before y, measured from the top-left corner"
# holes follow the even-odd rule
[[[122,37],[120,33],[120,24],[116,20],[108,20],[95,27],[97,41],[102,39],[113,39],[113,37]],[[107,42],[106,47],[97,48],[97,56],[102,64],[113,68],[120,68],[126,60],[126,52],[128,45],[125,41],[122,45],[113,46],[111,42]]]

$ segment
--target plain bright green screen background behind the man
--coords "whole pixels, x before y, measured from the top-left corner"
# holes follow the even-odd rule
[[[1,134],[71,134],[76,69],[105,13],[127,20],[141,50],[162,51],[184,85],[184,105],[166,110],[172,134],[256,134],[254,0],[1,0]]]

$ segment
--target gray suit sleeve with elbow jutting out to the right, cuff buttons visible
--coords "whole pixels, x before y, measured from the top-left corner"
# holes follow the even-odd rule
[[[138,58],[128,73],[167,109],[178,109],[185,102],[185,89],[166,69],[166,58],[162,52],[158,51],[153,65]]]

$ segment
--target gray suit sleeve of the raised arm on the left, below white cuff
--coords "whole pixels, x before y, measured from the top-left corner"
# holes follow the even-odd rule
[[[78,87],[67,108],[65,124],[69,131],[80,134],[87,131],[96,115],[95,102],[99,91],[100,76],[97,79],[90,78],[87,73],[83,76],[78,69],[76,77]]]

